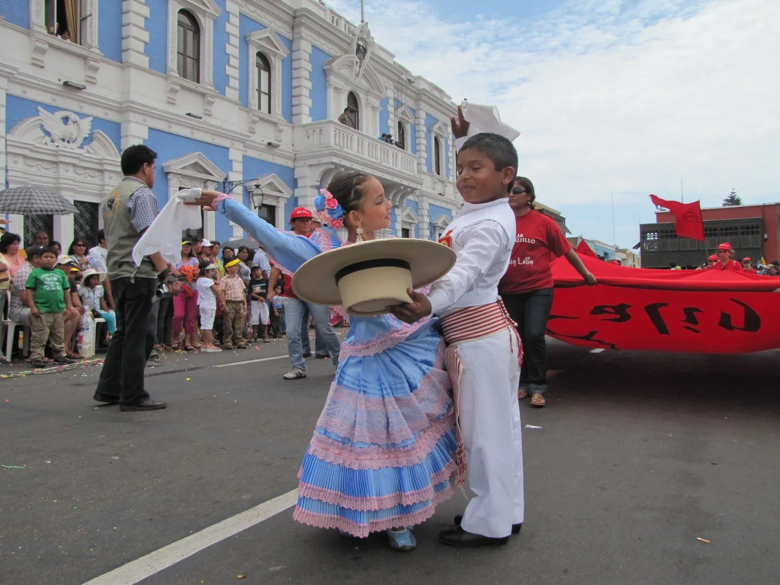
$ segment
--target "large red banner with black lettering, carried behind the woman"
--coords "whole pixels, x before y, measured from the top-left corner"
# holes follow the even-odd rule
[[[552,264],[548,335],[577,346],[685,353],[780,347],[780,278],[737,271],[623,268],[580,258],[587,286],[566,261]]]

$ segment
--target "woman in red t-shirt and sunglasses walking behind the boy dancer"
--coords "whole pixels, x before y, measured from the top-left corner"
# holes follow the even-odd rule
[[[515,179],[509,193],[509,207],[515,212],[517,236],[512,258],[498,285],[506,309],[523,339],[523,369],[520,371],[519,399],[531,395],[531,406],[544,406],[547,391],[547,345],[544,332],[552,307],[551,261],[566,256],[589,285],[596,277],[566,241],[551,218],[534,210],[534,185],[525,177]]]

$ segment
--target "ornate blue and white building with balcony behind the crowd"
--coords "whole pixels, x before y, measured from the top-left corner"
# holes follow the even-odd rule
[[[131,144],[158,152],[161,205],[183,187],[232,189],[283,228],[358,169],[395,205],[385,236],[435,239],[461,205],[454,112],[367,24],[317,0],[0,2],[0,185],[51,187],[80,211],[9,216],[26,242],[36,229],[65,246],[94,236]],[[204,236],[243,232],[205,212]]]

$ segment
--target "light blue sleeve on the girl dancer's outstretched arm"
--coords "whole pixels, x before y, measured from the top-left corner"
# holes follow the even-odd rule
[[[262,243],[268,254],[290,272],[295,272],[301,264],[322,252],[320,247],[308,238],[279,232],[236,200],[223,199],[217,207],[231,222],[246,229],[250,236]]]

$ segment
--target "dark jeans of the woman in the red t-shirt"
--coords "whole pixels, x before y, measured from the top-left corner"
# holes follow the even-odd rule
[[[547,391],[547,343],[544,332],[547,331],[547,320],[552,308],[552,289],[502,295],[502,300],[523,340],[519,388],[530,394],[544,394]]]

